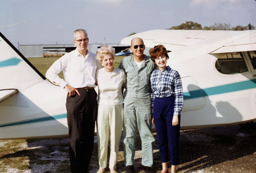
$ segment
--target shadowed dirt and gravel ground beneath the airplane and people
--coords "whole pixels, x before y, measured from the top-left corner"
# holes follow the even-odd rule
[[[153,144],[152,170],[160,173],[161,160],[156,141]],[[0,151],[17,140],[0,140]],[[96,142],[96,139],[95,139]],[[256,129],[243,130],[239,125],[184,130],[180,132],[180,164],[178,173],[256,173]],[[68,139],[24,140],[22,146],[0,155],[0,172],[7,173],[68,173]],[[12,146],[14,148],[14,146]],[[141,166],[141,140],[137,136],[135,172],[144,173]],[[15,159],[23,166],[15,166]],[[120,142],[118,172],[124,172],[123,147]],[[171,164],[168,163],[170,168]],[[90,173],[98,169],[97,144],[94,144]]]

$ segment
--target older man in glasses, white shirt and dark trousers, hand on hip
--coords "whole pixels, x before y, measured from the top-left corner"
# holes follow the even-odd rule
[[[95,55],[87,50],[87,31],[73,32],[76,49],[55,61],[46,78],[68,91],[66,99],[71,173],[88,172],[97,117],[95,72],[101,68]],[[64,80],[58,74],[63,71]]]

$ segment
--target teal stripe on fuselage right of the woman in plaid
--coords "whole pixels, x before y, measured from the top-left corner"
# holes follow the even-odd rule
[[[252,88],[256,88],[256,79],[188,91],[183,93],[183,97],[184,97],[184,100],[189,100],[189,99],[208,97],[212,95],[224,94],[229,92],[242,91],[242,90],[252,89]]]

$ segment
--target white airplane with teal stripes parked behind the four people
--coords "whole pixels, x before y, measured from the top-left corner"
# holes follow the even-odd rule
[[[256,30],[150,30],[147,48],[162,44],[184,91],[181,129],[256,120]],[[0,33],[0,139],[68,134],[67,92],[52,85]],[[148,53],[148,52],[146,52]]]

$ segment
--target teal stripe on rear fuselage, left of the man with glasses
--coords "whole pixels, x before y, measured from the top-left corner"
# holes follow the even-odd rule
[[[33,123],[42,123],[42,122],[46,122],[46,121],[60,120],[60,119],[64,119],[64,118],[67,118],[66,113],[59,114],[59,115],[53,115],[53,116],[34,118],[34,119],[29,119],[29,120],[23,120],[23,121],[17,121],[17,122],[13,122],[13,123],[1,124],[0,128],[16,126],[16,125],[27,125],[27,124],[33,124]]]

